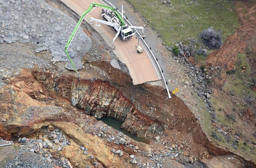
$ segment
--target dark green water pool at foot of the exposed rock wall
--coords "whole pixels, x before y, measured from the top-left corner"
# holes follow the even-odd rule
[[[121,131],[123,134],[125,134],[128,137],[134,139],[135,141],[149,144],[149,139],[142,138],[142,137],[137,137],[136,135],[133,135],[133,134],[129,133],[125,129],[122,129],[121,128],[121,125],[123,123],[122,121],[119,121],[119,120],[117,120],[115,118],[110,118],[110,117],[103,117],[103,118],[98,119],[98,120],[99,121],[103,121],[105,124],[113,127],[114,129],[117,129],[118,131]]]

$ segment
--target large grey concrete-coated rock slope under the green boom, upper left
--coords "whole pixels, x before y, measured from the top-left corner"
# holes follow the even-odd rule
[[[64,52],[76,21],[43,0],[0,1],[0,43],[37,44],[36,52],[49,50],[53,61],[68,61]],[[78,69],[92,46],[91,39],[79,28],[68,53]],[[66,68],[72,69],[70,63]]]

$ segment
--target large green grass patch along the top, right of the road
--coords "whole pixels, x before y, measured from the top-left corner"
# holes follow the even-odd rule
[[[157,31],[167,45],[198,39],[209,27],[222,31],[223,41],[239,26],[233,2],[224,0],[172,0],[164,5],[159,0],[126,0],[141,13],[148,25]],[[192,2],[192,5],[190,5]],[[188,4],[187,4],[188,3]],[[193,19],[192,16],[198,19]],[[182,26],[183,25],[183,26]]]

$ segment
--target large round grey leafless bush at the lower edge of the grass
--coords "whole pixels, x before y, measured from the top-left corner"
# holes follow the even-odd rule
[[[221,32],[214,30],[213,28],[205,29],[199,34],[200,38],[203,38],[205,44],[211,49],[218,49],[222,46]]]

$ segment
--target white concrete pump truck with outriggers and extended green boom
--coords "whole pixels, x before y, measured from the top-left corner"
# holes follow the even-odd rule
[[[73,62],[72,62],[72,60],[71,60],[71,58],[68,54],[67,49],[68,49],[70,43],[72,42],[72,39],[74,38],[74,36],[76,34],[76,31],[78,30],[78,27],[80,26],[80,24],[81,24],[82,20],[84,19],[85,15],[88,14],[93,9],[93,7],[103,8],[101,10],[101,16],[104,20],[91,18],[91,22],[93,20],[93,21],[96,21],[96,22],[99,22],[99,23],[103,23],[103,24],[112,26],[114,28],[114,30],[116,31],[116,35],[113,39],[111,49],[115,49],[114,41],[118,37],[118,35],[120,35],[120,38],[122,40],[128,40],[128,39],[131,39],[134,36],[134,34],[136,33],[136,29],[142,29],[142,37],[144,37],[143,27],[129,26],[124,22],[124,20],[123,20],[123,18],[124,18],[124,16],[123,16],[123,6],[122,6],[122,15],[121,15],[118,12],[117,8],[110,7],[110,6],[105,6],[105,5],[101,5],[101,4],[97,4],[97,3],[92,3],[89,6],[89,9],[86,10],[85,13],[82,14],[81,18],[79,19],[78,23],[76,24],[76,27],[75,27],[74,31],[72,32],[72,34],[71,34],[70,38],[68,39],[68,42],[67,42],[67,44],[64,48],[64,51],[67,54],[68,59],[70,60],[74,70],[78,73],[78,81],[79,81],[79,72],[77,71],[75,65],[73,64]]]

